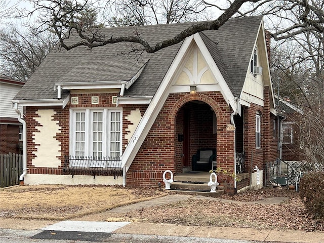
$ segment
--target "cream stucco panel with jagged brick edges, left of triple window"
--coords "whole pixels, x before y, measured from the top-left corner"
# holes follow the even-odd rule
[[[58,121],[53,120],[56,112],[53,109],[38,110],[36,114],[39,117],[34,119],[41,125],[36,126],[39,132],[34,132],[32,139],[35,144],[36,151],[33,154],[36,155],[32,159],[31,163],[35,167],[50,167],[57,168],[61,165],[61,143],[55,138],[57,133],[60,133],[61,127],[58,125]]]

